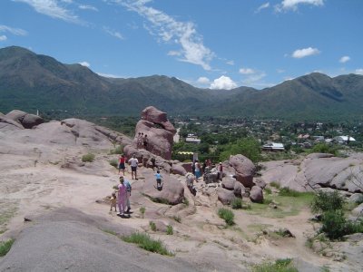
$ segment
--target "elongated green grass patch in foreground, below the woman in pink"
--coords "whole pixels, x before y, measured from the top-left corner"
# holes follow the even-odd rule
[[[132,235],[130,236],[124,236],[122,239],[127,243],[136,244],[139,248],[143,248],[147,251],[159,253],[166,256],[174,256],[172,252],[170,252],[162,245],[162,241],[154,240],[145,233],[135,232],[132,233]]]

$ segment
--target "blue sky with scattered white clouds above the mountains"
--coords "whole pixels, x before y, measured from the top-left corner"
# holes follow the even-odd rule
[[[363,74],[362,25],[361,0],[0,1],[0,47],[212,89]]]

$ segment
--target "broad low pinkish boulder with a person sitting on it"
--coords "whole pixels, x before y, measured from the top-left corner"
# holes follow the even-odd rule
[[[184,187],[181,181],[168,175],[168,173],[161,172],[162,174],[162,190],[156,189],[156,180],[152,171],[144,171],[144,183],[141,187],[141,193],[152,199],[155,202],[176,205],[182,203],[184,199]]]

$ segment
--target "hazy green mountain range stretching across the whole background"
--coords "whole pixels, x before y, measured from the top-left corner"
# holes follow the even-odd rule
[[[361,119],[363,75],[310,73],[256,90],[200,89],[175,77],[115,79],[81,64],[10,46],[0,49],[0,112],[67,112],[70,116],[137,115],[153,105],[168,114],[282,120]]]

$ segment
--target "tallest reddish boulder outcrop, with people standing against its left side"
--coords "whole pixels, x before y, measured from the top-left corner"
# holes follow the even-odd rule
[[[137,135],[147,135],[147,150],[165,160],[172,159],[173,136],[176,133],[172,123],[167,120],[166,113],[154,107],[147,107],[142,111],[142,120],[138,121],[135,128],[133,147],[137,147]]]

